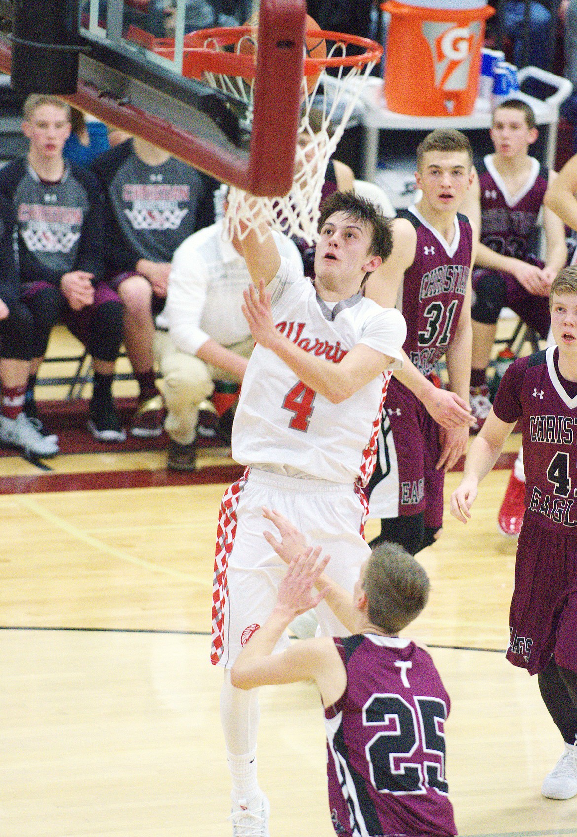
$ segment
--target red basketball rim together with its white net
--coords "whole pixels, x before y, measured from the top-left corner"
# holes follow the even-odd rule
[[[362,82],[380,59],[382,49],[368,39],[324,30],[309,31],[327,43],[323,58],[304,57],[302,105],[295,151],[294,182],[283,197],[254,198],[230,187],[225,216],[225,236],[246,237],[251,229],[259,237],[267,228],[307,244],[318,238],[319,204],[324,175],[359,100]],[[252,27],[199,30],[185,37],[183,73],[202,79],[215,90],[242,103],[245,125],[250,131],[256,68],[255,30]],[[144,45],[144,44],[143,44]],[[172,57],[174,46],[166,39],[146,44],[159,54]],[[362,54],[347,55],[348,45]],[[334,68],[329,75],[327,68]],[[263,224],[263,222],[265,222]]]

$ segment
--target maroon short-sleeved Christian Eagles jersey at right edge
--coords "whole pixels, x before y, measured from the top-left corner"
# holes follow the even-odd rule
[[[546,528],[566,532],[577,526],[577,395],[565,391],[558,352],[552,346],[513,362],[493,410],[508,424],[523,416],[525,506]]]

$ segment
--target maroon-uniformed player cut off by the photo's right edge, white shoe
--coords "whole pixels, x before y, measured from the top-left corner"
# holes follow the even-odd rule
[[[577,794],[577,267],[555,277],[549,306],[556,345],[508,367],[468,451],[451,511],[467,522],[479,482],[523,419],[526,511],[507,657],[537,675],[565,743],[541,793],[568,799]]]

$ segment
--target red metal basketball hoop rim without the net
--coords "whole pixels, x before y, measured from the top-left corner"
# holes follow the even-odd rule
[[[195,64],[198,71],[220,73],[223,75],[239,75],[244,79],[252,79],[256,70],[256,59],[251,54],[237,54],[220,52],[204,44],[212,40],[219,47],[236,46],[241,39],[253,34],[252,26],[220,26],[207,29],[197,29],[196,32],[185,36],[184,54],[189,64]],[[316,75],[326,67],[361,67],[364,64],[375,63],[383,54],[383,48],[375,41],[342,32],[330,32],[327,29],[308,29],[307,36],[318,35],[320,39],[332,41],[336,44],[360,47],[364,53],[358,55],[338,55],[324,58],[307,56],[303,62],[303,75]],[[202,42],[202,46],[191,46],[192,43]],[[160,44],[159,44],[160,46]],[[156,52],[158,47],[154,49]]]

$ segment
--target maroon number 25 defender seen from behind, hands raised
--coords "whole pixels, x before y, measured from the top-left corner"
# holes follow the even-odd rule
[[[329,806],[340,837],[456,834],[445,775],[447,691],[426,650],[398,633],[421,613],[429,579],[398,544],[380,543],[360,568],[352,596],[326,574],[320,548],[263,510],[280,533],[268,543],[289,564],[276,606],[232,668],[241,689],[314,680],[324,706]],[[315,586],[319,593],[313,592]],[[325,598],[350,630],[344,638],[304,639],[273,654],[298,615]],[[306,825],[299,822],[299,831]]]

